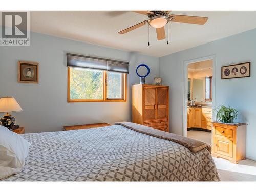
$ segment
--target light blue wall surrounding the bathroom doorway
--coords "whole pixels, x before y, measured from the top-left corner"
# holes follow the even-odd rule
[[[229,36],[159,59],[159,75],[170,86],[170,131],[182,135],[183,62],[216,55],[216,105],[237,108],[247,126],[246,157],[256,160],[256,30]],[[251,77],[221,79],[221,66],[251,61]]]

